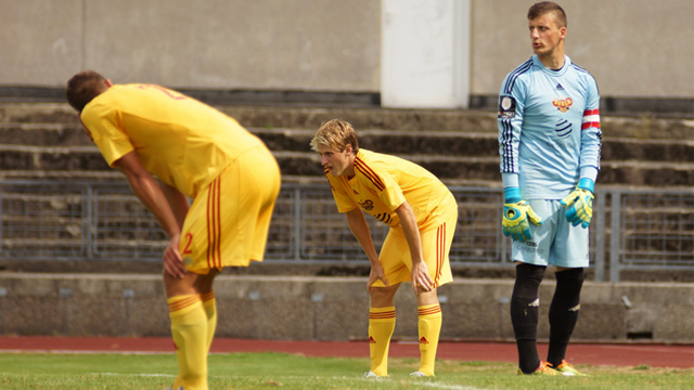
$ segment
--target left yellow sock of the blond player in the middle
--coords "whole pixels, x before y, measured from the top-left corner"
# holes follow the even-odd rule
[[[395,308],[369,310],[369,352],[371,370],[377,376],[388,376],[388,347],[395,329]]]

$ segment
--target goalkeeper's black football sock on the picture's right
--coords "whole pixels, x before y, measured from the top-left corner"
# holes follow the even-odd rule
[[[550,306],[550,347],[547,354],[548,363],[554,367],[566,358],[566,348],[581,308],[583,278],[582,268],[556,273],[556,288]]]

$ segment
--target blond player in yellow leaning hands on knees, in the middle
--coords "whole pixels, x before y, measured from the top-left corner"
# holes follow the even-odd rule
[[[421,363],[412,376],[434,376],[441,330],[439,286],[451,282],[448,252],[458,222],[453,194],[434,174],[402,158],[359,148],[351,125],[333,119],[316,132],[311,148],[333,190],[339,212],[371,261],[367,377],[388,375],[388,346],[395,329],[394,297],[412,282],[419,312]],[[390,229],[381,252],[373,245],[364,212]]]

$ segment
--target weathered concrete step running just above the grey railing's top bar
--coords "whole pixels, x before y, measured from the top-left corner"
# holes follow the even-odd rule
[[[689,147],[689,146],[687,146]],[[441,180],[498,182],[499,157],[394,153],[414,161]],[[318,154],[274,151],[283,176],[322,178]],[[680,155],[689,160],[689,154]],[[97,173],[99,172],[99,173]],[[103,172],[103,173],[102,173]],[[0,145],[0,177],[4,178],[111,178],[113,172],[95,146]],[[634,186],[694,185],[694,162],[603,159],[601,184]]]

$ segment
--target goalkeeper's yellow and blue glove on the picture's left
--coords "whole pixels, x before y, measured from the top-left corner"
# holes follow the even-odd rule
[[[520,198],[520,188],[505,187],[503,194],[503,220],[501,221],[503,235],[522,242],[531,239],[532,233],[530,232],[528,219],[536,225],[542,224],[542,219],[535,213],[527,202]]]

